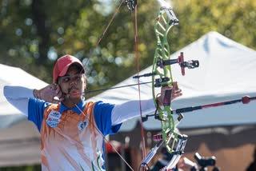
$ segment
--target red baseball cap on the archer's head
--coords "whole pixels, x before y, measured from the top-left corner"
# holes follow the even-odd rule
[[[66,74],[66,71],[69,69],[69,67],[76,63],[79,67],[81,67],[82,73],[85,73],[85,70],[83,70],[82,62],[78,58],[75,58],[74,56],[71,56],[70,54],[66,54],[65,56],[62,56],[61,58],[58,58],[57,62],[54,66],[54,82],[57,82],[58,77],[62,77]]]

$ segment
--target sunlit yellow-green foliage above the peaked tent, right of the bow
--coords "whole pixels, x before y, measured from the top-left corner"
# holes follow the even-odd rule
[[[181,23],[178,28],[180,45],[185,46],[214,30],[227,38],[256,49],[255,1],[190,0],[184,3],[176,1],[176,5]]]

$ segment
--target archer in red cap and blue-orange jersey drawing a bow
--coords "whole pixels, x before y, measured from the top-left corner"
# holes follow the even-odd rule
[[[104,137],[117,133],[123,121],[140,115],[138,101],[121,105],[86,102],[82,62],[68,54],[55,63],[53,81],[42,89],[4,87],[6,99],[34,122],[41,134],[42,170],[105,170]],[[159,105],[165,91],[172,88],[162,87]],[[171,100],[182,95],[181,89],[172,92]],[[142,113],[155,110],[152,99],[141,104]]]

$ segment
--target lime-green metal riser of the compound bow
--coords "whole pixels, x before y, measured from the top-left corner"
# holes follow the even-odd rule
[[[158,107],[158,101],[156,99],[155,87],[160,87],[164,85],[172,85],[173,77],[171,73],[171,66],[159,66],[159,62],[165,62],[170,60],[170,46],[167,41],[167,36],[170,31],[170,28],[174,26],[173,21],[178,21],[174,19],[170,15],[170,10],[166,10],[166,8],[161,8],[158,13],[158,17],[156,18],[156,22],[154,25],[155,34],[157,37],[157,47],[154,54],[154,65],[152,69],[152,73],[154,73],[152,77],[152,93],[154,96],[154,103]],[[169,97],[170,98],[170,97]],[[165,142],[166,149],[169,153],[173,152],[174,141],[171,145],[170,140],[172,139],[172,135],[170,133],[174,133],[175,123],[174,117],[172,116],[170,109],[170,99],[167,100],[166,104],[164,104],[163,108],[158,107],[158,119],[162,124],[162,140]],[[174,133],[174,137],[178,137],[177,133]]]

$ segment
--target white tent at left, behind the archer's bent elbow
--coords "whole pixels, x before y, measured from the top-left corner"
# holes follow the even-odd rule
[[[0,166],[30,165],[41,162],[39,133],[18,109],[6,101],[4,85],[22,85],[40,89],[46,86],[38,78],[16,67],[0,64]]]

